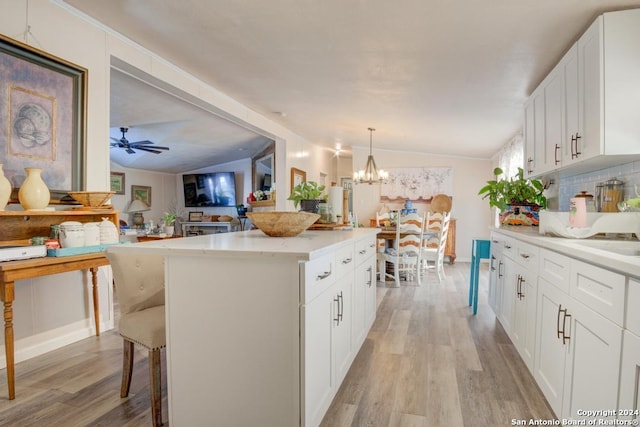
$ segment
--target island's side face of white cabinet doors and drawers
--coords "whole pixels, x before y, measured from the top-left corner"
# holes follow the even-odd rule
[[[321,423],[375,320],[375,251],[375,240],[367,238],[337,250],[333,264],[324,260],[315,269],[305,266],[313,272],[305,274],[306,281],[329,280],[321,292],[309,293],[312,299],[301,309],[306,427]]]

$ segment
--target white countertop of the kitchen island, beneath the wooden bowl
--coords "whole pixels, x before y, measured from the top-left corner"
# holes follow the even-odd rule
[[[260,230],[164,239],[110,246],[107,250],[158,255],[278,256],[312,260],[349,239],[374,236],[377,228],[304,231],[296,237],[269,237]]]

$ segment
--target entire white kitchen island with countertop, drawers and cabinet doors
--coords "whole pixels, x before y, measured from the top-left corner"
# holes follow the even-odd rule
[[[375,319],[376,232],[110,247],[165,256],[170,425],[318,425]]]

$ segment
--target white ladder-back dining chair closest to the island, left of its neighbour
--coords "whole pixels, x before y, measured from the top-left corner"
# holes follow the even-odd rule
[[[393,277],[396,287],[400,287],[400,273],[404,273],[407,280],[418,273],[423,227],[424,215],[399,215],[393,247],[381,254],[384,260],[382,277]],[[387,263],[393,265],[393,274],[386,272]]]

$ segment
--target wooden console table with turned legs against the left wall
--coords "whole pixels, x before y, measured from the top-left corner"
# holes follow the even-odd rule
[[[14,282],[50,274],[76,270],[89,270],[93,285],[93,316],[96,335],[100,335],[100,305],[98,301],[98,267],[109,265],[102,252],[65,257],[32,258],[20,261],[0,262],[0,300],[4,304],[4,351],[7,358],[7,388],[9,400],[16,397],[15,363],[13,348]]]

